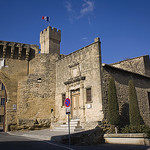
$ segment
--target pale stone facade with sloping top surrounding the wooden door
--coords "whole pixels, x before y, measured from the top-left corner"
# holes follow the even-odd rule
[[[81,122],[103,118],[101,95],[101,49],[99,39],[89,46],[75,51],[56,63],[56,118],[65,122],[65,106],[62,93],[71,99],[71,91],[80,89],[79,112]],[[92,101],[86,101],[86,88],[91,87]]]

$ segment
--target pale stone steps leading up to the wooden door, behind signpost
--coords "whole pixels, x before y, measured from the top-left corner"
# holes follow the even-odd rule
[[[70,132],[83,131],[84,129],[80,126],[80,119],[71,119],[70,120]],[[68,122],[60,125],[59,127],[54,127],[52,131],[68,132]]]

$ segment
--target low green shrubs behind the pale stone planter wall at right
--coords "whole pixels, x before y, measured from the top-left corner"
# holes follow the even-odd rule
[[[138,126],[125,126],[121,129],[121,133],[146,133],[148,138],[150,138],[150,127],[147,125]]]

